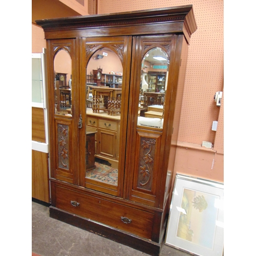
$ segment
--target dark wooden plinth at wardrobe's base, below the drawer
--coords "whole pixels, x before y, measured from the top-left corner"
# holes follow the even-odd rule
[[[80,217],[78,215],[70,214],[65,210],[60,210],[53,206],[50,206],[49,209],[50,217],[53,219],[66,222],[70,225],[90,231],[104,238],[113,240],[117,243],[132,247],[153,256],[158,256],[160,253],[163,239],[161,240],[161,243],[158,244],[148,239],[137,237],[132,233],[125,232],[120,229]]]

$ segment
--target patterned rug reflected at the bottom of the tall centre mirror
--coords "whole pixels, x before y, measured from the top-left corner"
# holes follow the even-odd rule
[[[86,172],[86,178],[102,181],[117,186],[118,169],[95,162],[96,168]]]

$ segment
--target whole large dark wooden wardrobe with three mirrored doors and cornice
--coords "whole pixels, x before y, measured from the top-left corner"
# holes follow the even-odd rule
[[[50,216],[158,255],[192,6],[36,23],[47,40]]]

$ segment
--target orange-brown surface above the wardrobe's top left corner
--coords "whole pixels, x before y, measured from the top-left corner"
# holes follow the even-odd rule
[[[81,16],[58,0],[32,0],[32,23],[37,19]]]

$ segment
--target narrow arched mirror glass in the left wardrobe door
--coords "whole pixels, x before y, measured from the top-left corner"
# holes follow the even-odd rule
[[[55,114],[72,115],[72,60],[63,48],[54,57]]]

